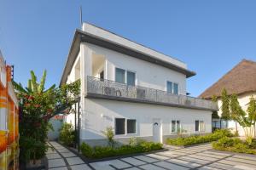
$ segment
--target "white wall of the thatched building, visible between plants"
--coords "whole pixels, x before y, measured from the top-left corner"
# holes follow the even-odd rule
[[[243,111],[246,111],[247,112],[247,107],[248,107],[248,103],[250,101],[250,98],[251,96],[256,96],[256,92],[253,92],[253,93],[247,93],[247,94],[241,94],[241,95],[238,95],[237,96],[237,99],[238,99],[238,102],[239,104],[241,105],[241,109]],[[222,114],[222,111],[221,111],[221,105],[222,105],[222,102],[220,99],[218,99],[218,116],[221,116]],[[231,128],[232,130],[234,130],[234,132],[236,131],[236,122],[234,121],[229,121],[228,122],[228,128]],[[243,131],[243,128],[239,125],[239,123],[237,123],[237,129],[238,129],[238,133],[240,136],[244,136],[244,131]],[[256,129],[255,129],[256,130]]]

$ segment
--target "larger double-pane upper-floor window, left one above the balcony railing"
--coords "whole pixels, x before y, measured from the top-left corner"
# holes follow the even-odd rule
[[[127,85],[135,86],[135,78],[135,72],[115,68],[115,82],[127,83]]]

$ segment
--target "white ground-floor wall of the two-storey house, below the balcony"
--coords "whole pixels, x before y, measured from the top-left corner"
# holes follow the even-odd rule
[[[195,120],[206,123],[206,131],[212,133],[212,111],[175,108],[162,105],[120,102],[107,99],[85,99],[82,122],[82,139],[104,139],[102,131],[114,127],[114,118],[137,120],[137,133],[116,135],[115,139],[130,137],[152,137],[153,118],[160,118],[162,135],[172,135],[172,120],[180,120],[187,133],[195,133]],[[163,141],[164,142],[164,141]]]

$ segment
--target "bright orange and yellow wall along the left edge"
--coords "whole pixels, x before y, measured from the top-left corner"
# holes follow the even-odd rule
[[[18,101],[11,82],[12,67],[0,51],[0,169],[19,169]]]

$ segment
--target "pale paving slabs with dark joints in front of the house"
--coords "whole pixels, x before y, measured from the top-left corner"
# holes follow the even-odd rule
[[[109,161],[96,161],[89,164],[84,163],[79,156],[74,155],[61,144],[56,142],[50,142],[50,144],[55,147],[55,150],[49,150],[47,153],[50,170],[256,170],[256,156],[211,150],[211,144]]]

